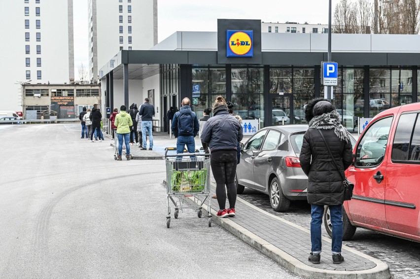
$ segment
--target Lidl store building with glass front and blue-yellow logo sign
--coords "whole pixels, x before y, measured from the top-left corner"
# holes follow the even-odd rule
[[[178,31],[150,50],[121,50],[102,67],[103,109],[149,97],[156,129],[167,131],[166,112],[182,98],[201,117],[222,95],[261,127],[305,123],[305,104],[324,96],[327,41],[327,34],[261,33],[259,20],[219,19],[217,32]],[[419,35],[332,34],[332,60],[333,103],[349,131],[357,131],[357,118],[420,101]]]

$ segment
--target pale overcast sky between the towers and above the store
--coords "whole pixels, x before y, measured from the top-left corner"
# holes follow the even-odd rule
[[[338,2],[332,0],[333,12]],[[73,5],[77,79],[80,64],[88,65],[88,4],[87,0],[73,0]],[[158,41],[175,31],[217,31],[218,18],[328,24],[328,0],[158,0]]]

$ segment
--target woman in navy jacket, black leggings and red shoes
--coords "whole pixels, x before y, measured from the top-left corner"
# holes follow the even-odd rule
[[[209,143],[210,165],[216,180],[216,196],[219,204],[218,217],[235,216],[236,187],[235,174],[238,163],[237,146],[243,138],[239,121],[229,115],[228,107],[222,96],[217,96],[213,105],[213,117],[204,125],[202,140]],[[226,209],[226,192],[229,208]]]

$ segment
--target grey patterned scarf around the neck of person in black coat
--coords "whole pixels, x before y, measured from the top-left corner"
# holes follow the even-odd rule
[[[339,114],[336,110],[314,116],[314,118],[309,122],[309,127],[323,130],[334,129],[334,133],[340,138],[340,140],[345,140],[347,143],[350,142],[349,131],[340,124]]]

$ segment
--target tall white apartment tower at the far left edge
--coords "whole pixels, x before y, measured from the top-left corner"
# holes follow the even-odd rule
[[[22,111],[22,84],[74,80],[73,0],[3,1],[0,7],[0,109]]]

